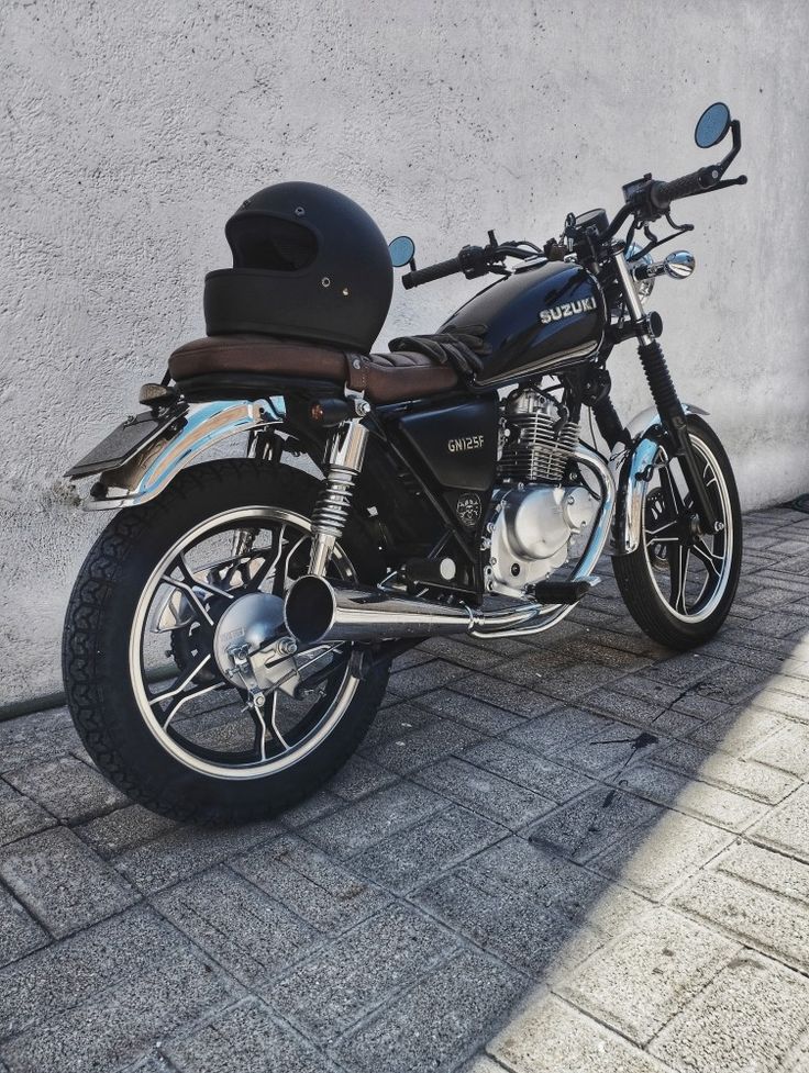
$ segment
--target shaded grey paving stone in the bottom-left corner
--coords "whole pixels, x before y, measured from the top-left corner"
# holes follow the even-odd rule
[[[118,982],[66,1016],[45,1021],[2,1047],[10,1073],[113,1070],[153,1051],[157,1040],[230,1004],[237,994],[226,976],[184,951],[166,971]]]

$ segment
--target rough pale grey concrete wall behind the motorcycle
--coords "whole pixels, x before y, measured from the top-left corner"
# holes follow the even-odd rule
[[[698,270],[655,305],[745,504],[806,490],[808,23],[787,0],[5,0],[0,703],[57,688],[99,528],[59,474],[202,334],[224,220],[275,180],[344,190],[426,264],[490,226],[544,239],[645,170],[707,163],[694,121],[727,99],[751,182],[677,209]],[[397,290],[383,338],[473,287]],[[627,350],[611,370],[635,411]]]

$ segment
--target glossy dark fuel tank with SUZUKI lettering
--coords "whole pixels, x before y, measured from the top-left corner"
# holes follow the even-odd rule
[[[579,265],[545,261],[487,287],[440,331],[487,325],[491,354],[475,381],[495,387],[586,360],[601,345],[605,323],[596,279]]]

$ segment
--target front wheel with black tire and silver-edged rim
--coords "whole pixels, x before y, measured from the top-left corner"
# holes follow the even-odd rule
[[[733,604],[742,566],[742,514],[728,456],[701,417],[689,415],[688,435],[719,530],[699,532],[679,460],[661,448],[646,488],[640,545],[612,559],[634,621],[654,640],[678,649],[695,648],[717,633]]]

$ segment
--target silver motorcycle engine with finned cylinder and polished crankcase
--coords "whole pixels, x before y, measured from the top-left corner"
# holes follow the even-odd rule
[[[499,487],[487,524],[489,592],[522,596],[587,546],[600,500],[583,482],[565,481],[578,438],[578,424],[535,388],[506,400]]]

